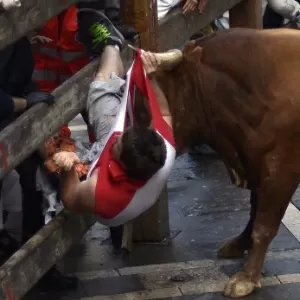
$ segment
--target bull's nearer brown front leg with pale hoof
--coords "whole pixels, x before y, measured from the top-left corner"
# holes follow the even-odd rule
[[[281,172],[281,173],[280,173]],[[227,283],[224,294],[233,298],[250,294],[260,287],[261,269],[267,249],[276,236],[290,199],[297,188],[298,176],[287,174],[277,166],[262,174],[264,182],[258,190],[257,211],[252,230],[252,249],[242,272]]]

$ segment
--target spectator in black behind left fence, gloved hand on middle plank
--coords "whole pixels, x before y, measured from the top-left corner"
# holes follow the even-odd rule
[[[27,37],[21,38],[0,51],[0,130],[33,105],[40,102],[53,103],[51,94],[39,92],[32,84],[32,73],[33,57]],[[36,171],[39,164],[39,155],[33,153],[16,168],[22,188],[24,242],[44,224],[43,196],[36,189]],[[56,288],[73,288],[77,281],[74,278],[62,276],[55,268],[52,268],[41,283],[46,286],[50,284],[51,287]]]

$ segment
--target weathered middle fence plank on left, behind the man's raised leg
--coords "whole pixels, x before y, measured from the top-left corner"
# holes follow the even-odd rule
[[[128,68],[132,51],[127,49],[122,56]],[[58,87],[54,105],[37,104],[0,132],[0,179],[82,111],[98,65],[99,59]]]

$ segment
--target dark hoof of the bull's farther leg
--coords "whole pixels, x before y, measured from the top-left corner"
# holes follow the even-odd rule
[[[226,242],[219,250],[220,258],[243,258],[247,249],[245,240],[240,236]]]

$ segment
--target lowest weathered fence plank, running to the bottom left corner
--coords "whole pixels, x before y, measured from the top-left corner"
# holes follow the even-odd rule
[[[0,268],[0,300],[19,300],[79,242],[93,216],[61,212]]]

